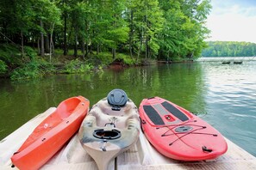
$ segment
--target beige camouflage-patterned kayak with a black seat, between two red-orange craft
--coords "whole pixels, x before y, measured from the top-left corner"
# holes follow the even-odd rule
[[[78,137],[99,170],[103,170],[108,168],[109,161],[134,145],[139,133],[137,107],[122,89],[114,89],[92,106]]]

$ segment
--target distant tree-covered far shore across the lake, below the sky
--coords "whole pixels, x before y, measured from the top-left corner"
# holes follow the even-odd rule
[[[256,56],[256,44],[235,41],[209,41],[203,57],[251,57]]]

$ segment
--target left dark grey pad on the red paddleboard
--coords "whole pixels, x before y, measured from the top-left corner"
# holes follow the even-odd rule
[[[154,110],[153,106],[143,106],[144,111],[146,112],[148,118],[153,122],[155,125],[164,125],[165,122],[160,117],[159,113]]]

